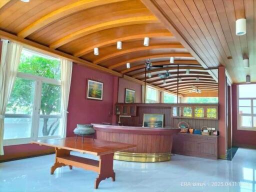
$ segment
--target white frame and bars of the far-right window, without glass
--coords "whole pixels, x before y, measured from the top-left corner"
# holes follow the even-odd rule
[[[256,126],[254,126],[253,117],[256,117],[256,112],[253,111],[253,100],[256,100],[256,97],[239,97],[239,85],[237,86],[237,99],[236,99],[236,111],[237,111],[237,130],[254,130],[256,131]],[[239,100],[250,100],[250,106],[239,105]],[[250,113],[239,113],[239,107],[250,107]],[[255,107],[255,106],[254,106]],[[242,126],[241,125],[241,116],[251,116],[251,126]]]

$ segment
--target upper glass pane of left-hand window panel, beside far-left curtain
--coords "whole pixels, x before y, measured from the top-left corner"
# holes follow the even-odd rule
[[[34,84],[34,80],[16,78],[6,107],[6,114],[32,113]]]

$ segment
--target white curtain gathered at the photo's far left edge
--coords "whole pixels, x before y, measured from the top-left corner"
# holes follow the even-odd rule
[[[13,87],[22,45],[2,40],[0,62],[0,155],[3,155],[4,114]]]

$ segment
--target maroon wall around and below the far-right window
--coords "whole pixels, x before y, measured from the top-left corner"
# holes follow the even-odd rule
[[[232,145],[256,146],[256,131],[237,130],[237,84],[232,85]]]

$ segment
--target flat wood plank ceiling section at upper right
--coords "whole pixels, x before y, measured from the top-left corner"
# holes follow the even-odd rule
[[[224,65],[233,82],[256,81],[255,0],[141,0],[204,67]],[[246,34],[235,20],[246,18]],[[249,58],[249,68],[242,59]]]

